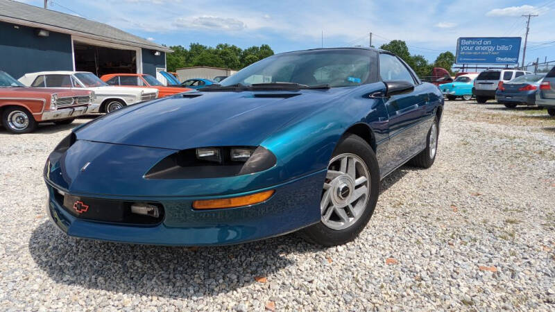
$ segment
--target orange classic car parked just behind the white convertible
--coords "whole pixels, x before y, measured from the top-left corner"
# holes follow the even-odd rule
[[[191,91],[189,88],[166,87],[151,75],[146,73],[110,73],[101,77],[108,85],[118,87],[149,87],[158,90],[158,97],[163,98],[172,94]]]

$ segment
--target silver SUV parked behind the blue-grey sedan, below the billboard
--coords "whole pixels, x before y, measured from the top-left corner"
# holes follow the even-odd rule
[[[476,96],[476,101],[478,103],[486,103],[486,101],[495,98],[495,91],[497,91],[499,83],[506,83],[509,80],[529,73],[528,71],[520,71],[517,69],[488,69],[482,71],[474,80],[472,94]]]

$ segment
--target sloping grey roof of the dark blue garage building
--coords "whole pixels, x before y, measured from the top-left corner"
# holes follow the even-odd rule
[[[105,42],[173,52],[166,46],[131,35],[108,24],[12,0],[0,0],[0,21],[44,28],[49,31],[69,33]]]

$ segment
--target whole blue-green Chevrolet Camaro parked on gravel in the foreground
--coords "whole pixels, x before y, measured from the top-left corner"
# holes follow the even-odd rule
[[[300,230],[338,245],[380,180],[434,164],[443,95],[377,49],[281,53],[222,85],[123,107],[74,128],[44,168],[70,236],[226,245]]]

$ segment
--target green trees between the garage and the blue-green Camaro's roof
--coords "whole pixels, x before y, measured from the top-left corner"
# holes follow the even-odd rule
[[[185,46],[169,46],[173,53],[167,53],[166,66],[168,71],[176,71],[182,67],[210,66],[239,70],[254,62],[273,55],[268,44],[250,46],[241,49],[233,44],[218,44],[215,48],[199,43]]]

